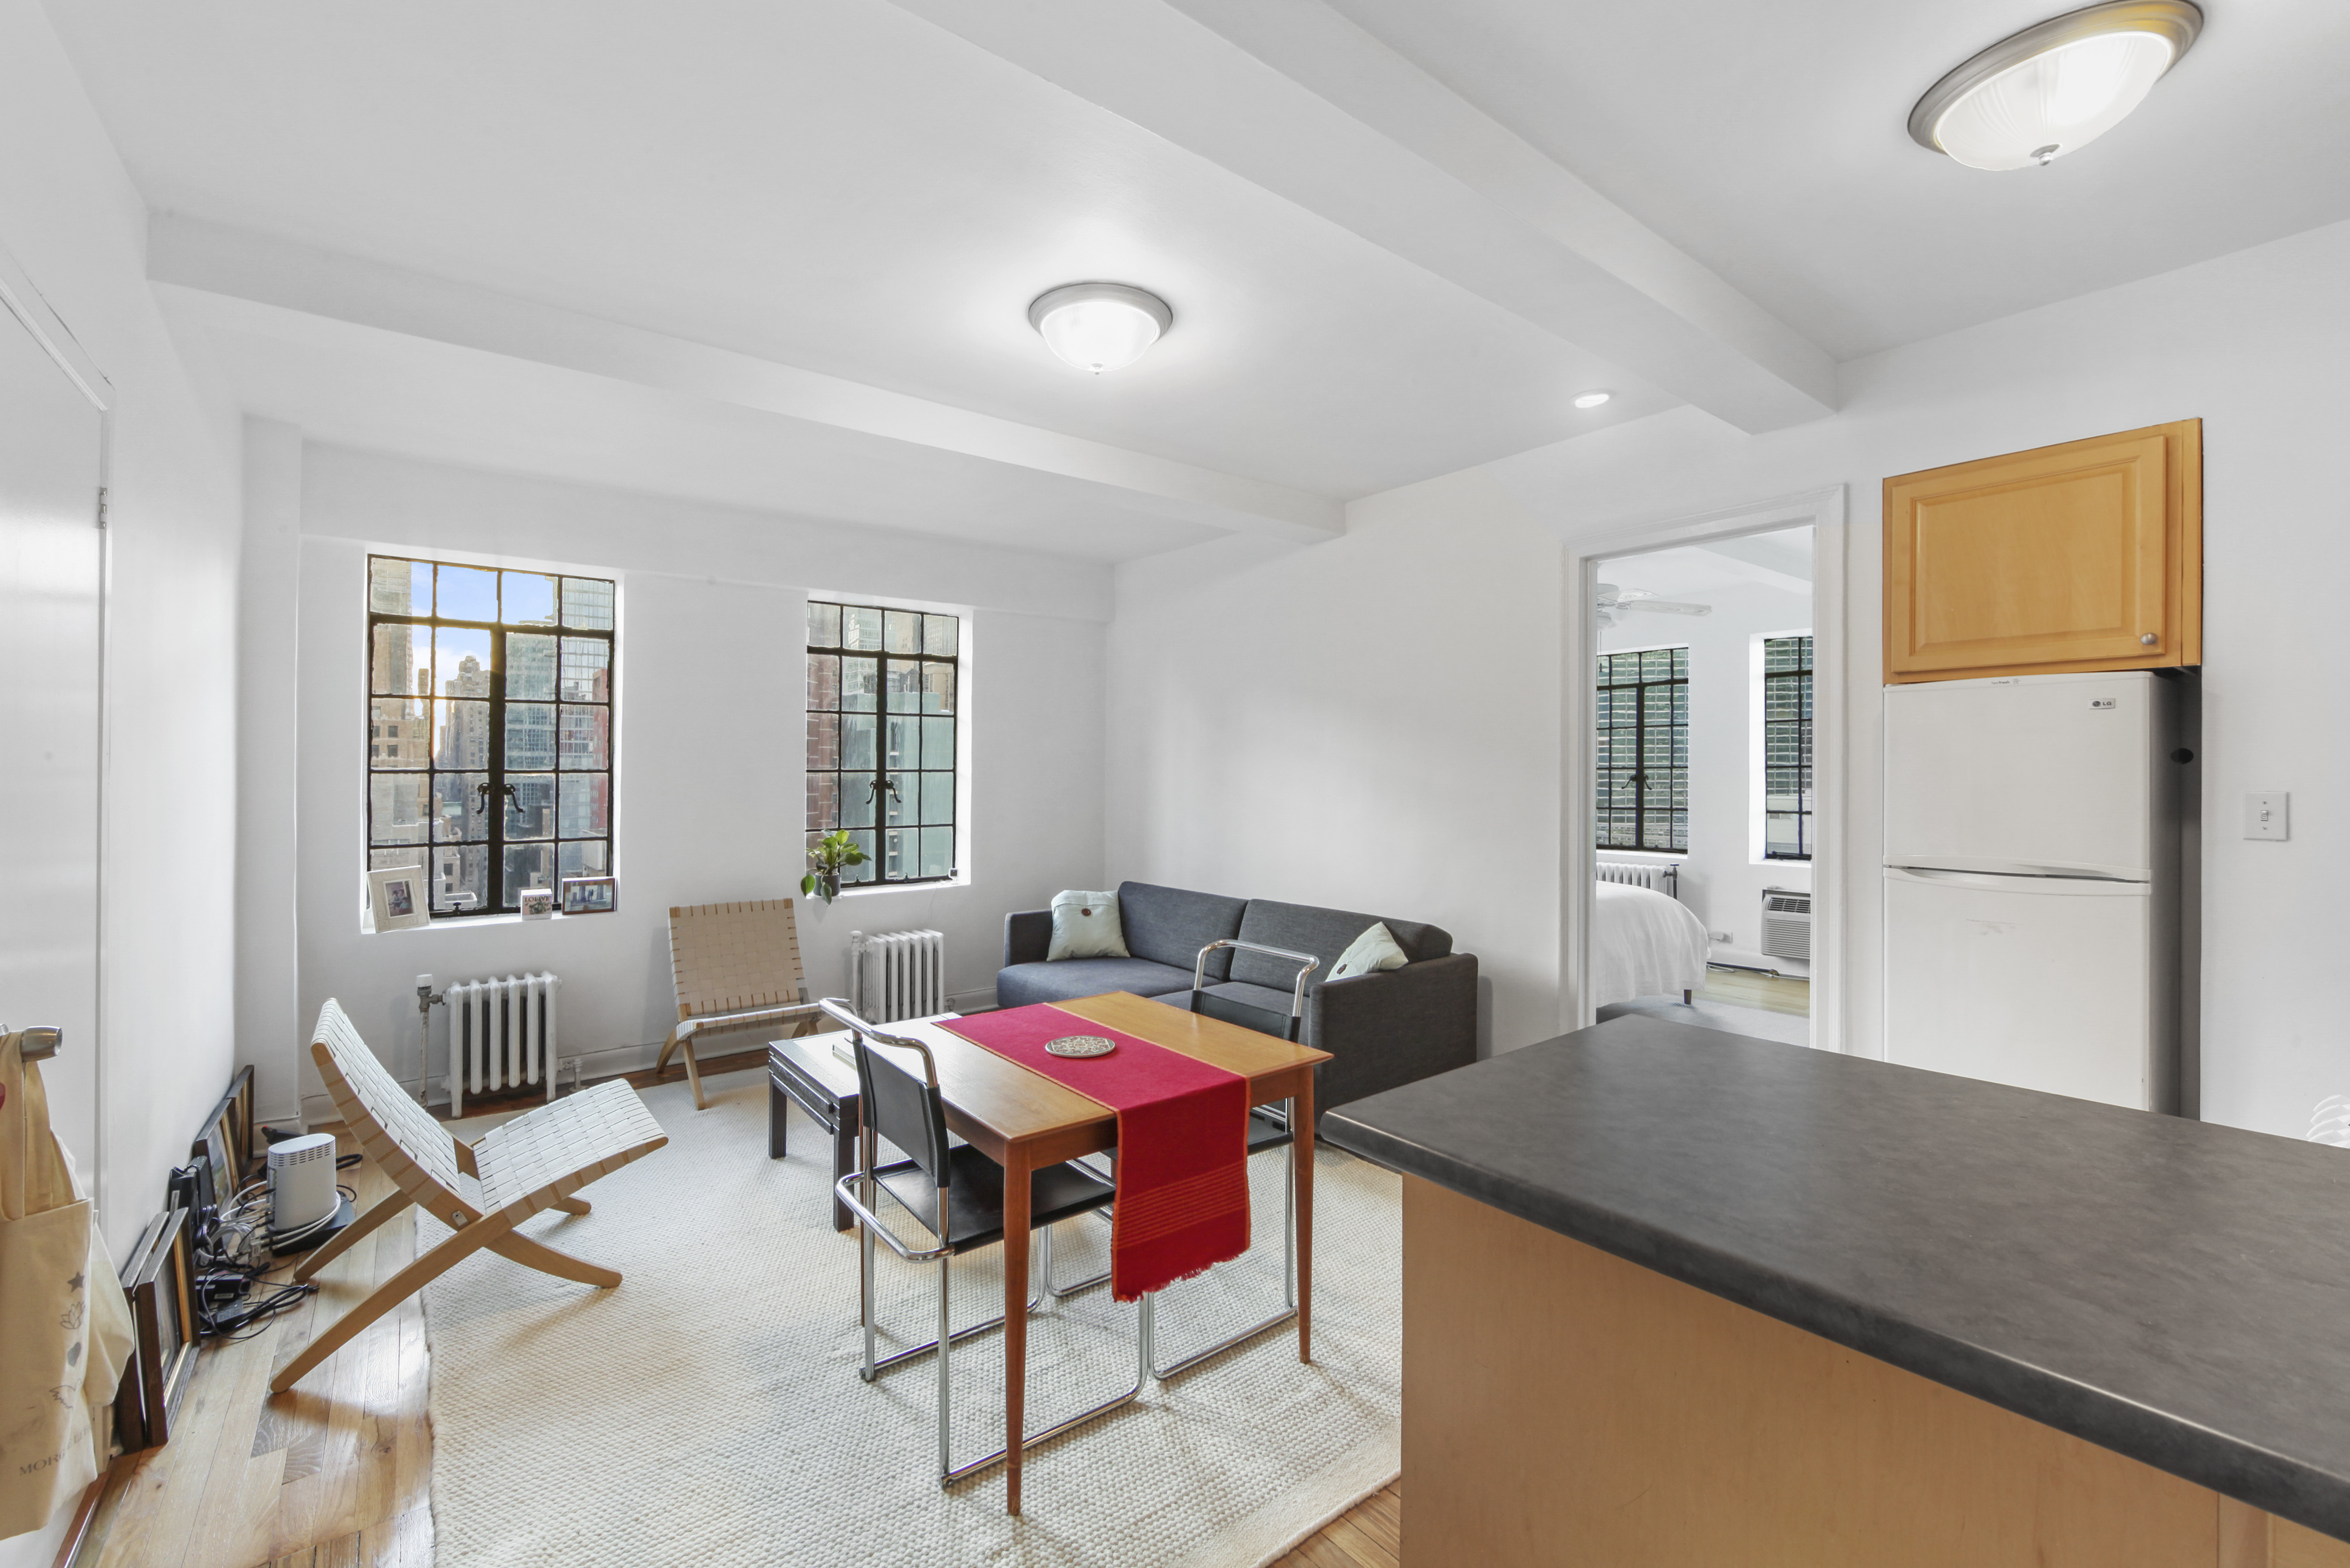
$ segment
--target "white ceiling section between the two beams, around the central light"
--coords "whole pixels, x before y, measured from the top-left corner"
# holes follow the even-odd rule
[[[888,5],[56,19],[162,212],[1285,487],[1389,489],[1643,393]],[[1175,329],[1126,374],[1062,364],[1025,313],[1079,277]]]

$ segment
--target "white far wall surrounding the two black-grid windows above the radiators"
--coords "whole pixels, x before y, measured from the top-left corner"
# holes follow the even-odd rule
[[[801,900],[818,994],[844,990],[851,929],[935,926],[949,990],[985,999],[1003,914],[1100,879],[1102,567],[334,447],[301,454],[301,1027],[275,1048],[301,1067],[313,1114],[324,1103],[301,1041],[317,1006],[338,997],[376,1053],[414,1077],[418,973],[449,983],[550,969],[564,978],[566,1056],[602,1053],[592,1072],[649,1060],[677,1016],[667,907],[799,891],[808,590],[971,616],[968,884],[848,891],[830,910]],[[620,578],[618,914],[362,931],[369,545]],[[437,1063],[439,1016],[435,1041]]]

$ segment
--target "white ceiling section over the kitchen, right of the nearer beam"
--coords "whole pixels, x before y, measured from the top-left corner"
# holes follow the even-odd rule
[[[2204,0],[2136,115],[2047,169],[1908,139],[2075,0],[1330,0],[1838,360],[2350,219],[2350,5]]]

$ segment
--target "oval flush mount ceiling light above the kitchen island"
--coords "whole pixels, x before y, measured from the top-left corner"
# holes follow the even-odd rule
[[[2200,31],[2188,0],[2052,16],[1934,82],[1911,110],[1911,136],[1972,169],[2049,165],[2120,125]]]

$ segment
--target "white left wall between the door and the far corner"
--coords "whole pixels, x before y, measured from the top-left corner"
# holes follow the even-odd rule
[[[235,416],[164,329],[146,212],[33,0],[0,0],[0,244],[115,388],[103,1037],[59,1072],[101,1065],[101,1147],[75,1154],[122,1258],[233,1072]],[[47,1563],[63,1526],[0,1568]]]

